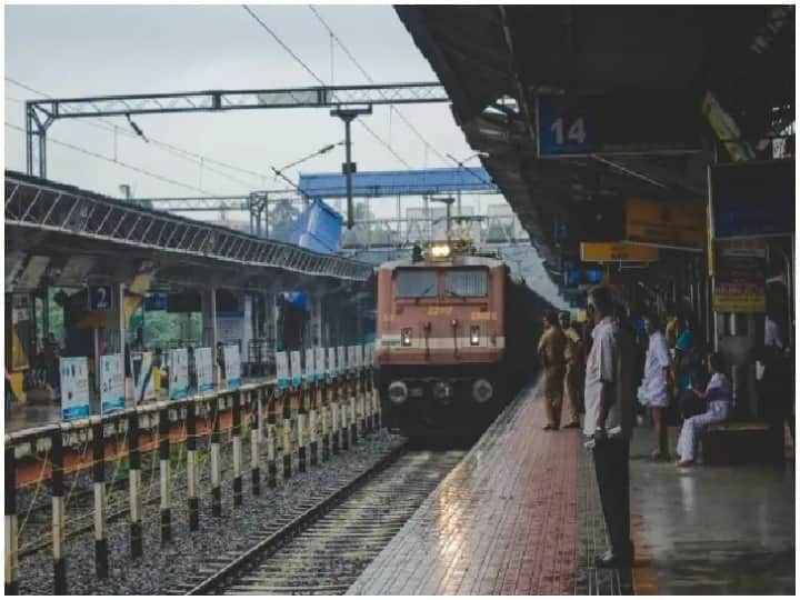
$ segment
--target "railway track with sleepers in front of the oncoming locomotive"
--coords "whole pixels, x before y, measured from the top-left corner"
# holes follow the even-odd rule
[[[403,447],[169,593],[344,593],[464,454]]]

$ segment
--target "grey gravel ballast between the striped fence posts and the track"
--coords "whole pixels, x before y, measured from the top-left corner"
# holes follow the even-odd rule
[[[309,466],[306,473],[298,473],[294,464],[293,477],[286,482],[279,481],[274,489],[267,486],[263,460],[259,497],[252,496],[249,467],[244,466],[244,501],[237,508],[233,507],[230,449],[227,449],[223,452],[226,464],[221,518],[211,516],[210,489],[206,480],[200,486],[200,530],[190,532],[184,478],[179,477],[172,491],[172,542],[161,544],[158,503],[144,507],[144,556],[139,559],[130,557],[128,520],[119,519],[109,523],[109,578],[99,580],[94,574],[92,532],[70,538],[66,544],[68,591],[70,594],[167,593],[184,584],[206,561],[219,558],[224,552],[251,547],[254,543],[252,536],[263,530],[266,524],[297,514],[298,506],[307,502],[310,496],[330,489],[338,481],[354,478],[402,443],[403,438],[381,430],[360,440],[357,446],[351,446],[350,450],[332,456],[327,462]],[[204,470],[208,471],[208,467]],[[144,473],[142,480],[144,483]],[[20,593],[52,594],[52,558],[49,552],[38,552],[20,560]]]

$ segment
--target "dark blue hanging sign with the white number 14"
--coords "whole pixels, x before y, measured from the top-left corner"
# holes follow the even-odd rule
[[[664,91],[539,96],[539,158],[697,152],[697,103],[691,94]]]

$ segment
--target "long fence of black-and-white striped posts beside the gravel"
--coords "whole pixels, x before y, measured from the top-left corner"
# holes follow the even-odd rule
[[[177,490],[187,491],[191,534],[203,499],[212,518],[222,516],[227,473],[236,510],[246,502],[246,470],[250,493],[259,496],[264,463],[267,484],[276,488],[296,464],[303,472],[309,458],[316,467],[380,427],[372,369],[363,368],[300,387],[279,389],[270,379],[7,434],[6,593],[19,593],[20,558],[40,560],[48,551],[53,592],[68,593],[69,540],[90,531],[96,577],[108,578],[110,521],[127,516],[137,559],[146,522],[158,519],[162,544],[172,539]]]

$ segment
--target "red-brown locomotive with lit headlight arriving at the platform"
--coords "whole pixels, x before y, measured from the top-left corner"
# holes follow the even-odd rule
[[[410,437],[481,432],[536,374],[550,304],[494,253],[439,242],[378,270],[383,422]]]

